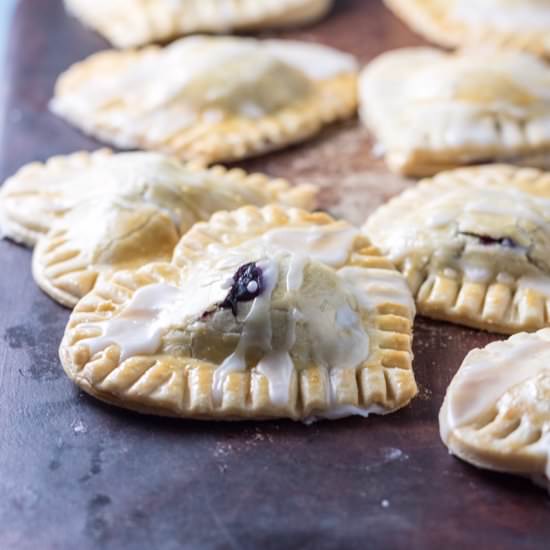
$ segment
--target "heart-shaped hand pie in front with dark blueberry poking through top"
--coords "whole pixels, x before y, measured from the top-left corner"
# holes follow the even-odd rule
[[[196,224],[171,264],[101,277],[61,344],[85,391],[137,411],[310,421],[416,394],[414,303],[345,222],[277,206]]]

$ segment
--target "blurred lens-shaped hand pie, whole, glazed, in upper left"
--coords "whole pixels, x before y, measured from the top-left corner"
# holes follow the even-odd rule
[[[302,141],[357,107],[356,63],[284,40],[190,37],[77,63],[51,108],[121,148],[213,163]]]

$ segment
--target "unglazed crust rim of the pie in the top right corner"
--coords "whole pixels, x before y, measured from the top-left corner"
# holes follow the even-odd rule
[[[464,0],[468,1],[468,0]],[[449,4],[441,0],[384,0],[385,4],[415,32],[445,47],[476,44],[529,51],[541,57],[550,56],[546,31],[503,31],[486,25],[472,28],[449,16]]]

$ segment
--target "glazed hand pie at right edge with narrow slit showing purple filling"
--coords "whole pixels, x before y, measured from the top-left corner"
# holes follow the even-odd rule
[[[444,172],[382,206],[365,230],[421,314],[507,334],[550,325],[550,173]]]

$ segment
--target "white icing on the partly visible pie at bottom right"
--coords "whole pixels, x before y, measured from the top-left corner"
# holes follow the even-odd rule
[[[549,364],[548,329],[471,351],[447,393],[448,430],[475,422],[508,390],[550,368]]]

